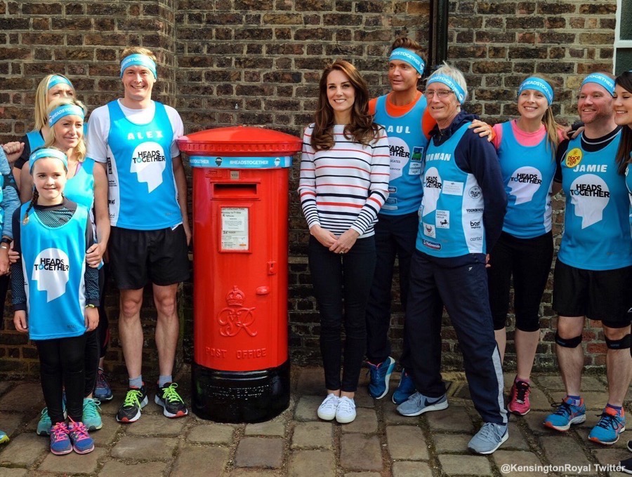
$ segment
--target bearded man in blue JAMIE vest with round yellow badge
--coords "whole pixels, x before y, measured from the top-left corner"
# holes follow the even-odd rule
[[[553,309],[558,312],[555,349],[566,397],[544,425],[566,431],[586,420],[580,396],[586,317],[601,321],[607,346],[608,402],[588,439],[612,445],[625,430],[622,408],[632,377],[630,283],[632,239],[625,176],[615,156],[621,127],[614,122],[614,79],[589,74],[581,83],[577,109],[584,132],[558,147],[553,192],[564,190],[564,235],[555,263]]]

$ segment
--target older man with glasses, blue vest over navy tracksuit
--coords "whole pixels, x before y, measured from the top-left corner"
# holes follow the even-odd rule
[[[404,332],[416,393],[400,404],[404,416],[448,406],[441,378],[441,321],[447,310],[483,426],[468,448],[491,454],[508,438],[501,358],[487,297],[486,254],[498,239],[507,204],[494,147],[468,129],[475,116],[461,105],[466,81],[444,65],[428,78],[426,98],[437,121],[431,132],[419,231],[411,264]]]

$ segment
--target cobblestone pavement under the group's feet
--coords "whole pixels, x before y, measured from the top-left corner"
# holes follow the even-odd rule
[[[187,370],[183,376],[179,390],[186,398],[190,387]],[[0,429],[11,436],[11,442],[0,450],[0,477],[532,477],[543,476],[544,466],[556,467],[549,472],[553,476],[624,475],[613,471],[612,466],[632,456],[626,450],[627,433],[610,448],[587,440],[607,400],[604,375],[584,377],[586,423],[567,433],[545,429],[541,424],[551,412],[551,403],[562,398],[560,377],[535,375],[532,411],[525,417],[512,416],[508,441],[485,457],[471,455],[466,449],[480,426],[480,418],[467,393],[463,393],[463,375],[446,373],[444,378],[452,382],[447,410],[402,417],[395,411],[390,395],[381,401],[369,398],[367,378],[363,376],[356,395],[357,419],[343,425],[316,417],[317,406],[324,398],[320,368],[293,368],[289,409],[261,424],[216,424],[193,415],[166,419],[162,408],[152,400],[138,422],[119,424],[114,415],[124,389],[118,387],[114,389],[114,401],[101,405],[103,429],[91,433],[96,450],[88,455],[65,456],[52,455],[48,439],[35,434],[43,406],[39,383],[2,382]],[[392,389],[398,379],[395,373]],[[505,379],[508,391],[513,375]],[[532,468],[503,473],[501,469],[507,464]]]

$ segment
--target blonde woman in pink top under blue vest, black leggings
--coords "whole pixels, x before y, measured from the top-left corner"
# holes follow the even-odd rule
[[[517,372],[507,409],[530,410],[529,377],[540,338],[539,309],[553,260],[551,186],[562,130],[553,118],[553,87],[529,76],[518,88],[518,119],[494,126],[505,192],[503,231],[489,254],[489,304],[501,360],[505,355],[513,276]]]

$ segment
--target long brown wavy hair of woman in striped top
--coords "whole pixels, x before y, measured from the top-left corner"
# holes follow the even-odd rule
[[[327,65],[320,77],[318,102],[314,113],[314,132],[312,134],[312,147],[315,151],[322,151],[334,147],[334,109],[327,99],[327,76],[334,70],[338,70],[348,77],[355,89],[355,102],[351,109],[351,121],[345,125],[344,135],[347,139],[353,139],[364,146],[374,140],[378,135],[378,125],[373,122],[373,116],[369,114],[369,87],[360,72],[350,62],[336,60]]]

